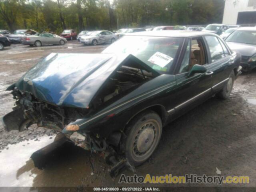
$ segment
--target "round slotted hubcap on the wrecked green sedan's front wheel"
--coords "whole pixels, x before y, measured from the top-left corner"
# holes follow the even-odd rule
[[[156,127],[152,122],[144,124],[138,131],[133,144],[133,153],[140,157],[151,148],[156,136]]]

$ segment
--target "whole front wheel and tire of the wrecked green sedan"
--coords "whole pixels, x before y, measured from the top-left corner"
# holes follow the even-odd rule
[[[151,110],[142,112],[129,122],[125,134],[125,157],[130,164],[138,166],[150,158],[160,141],[161,118]]]

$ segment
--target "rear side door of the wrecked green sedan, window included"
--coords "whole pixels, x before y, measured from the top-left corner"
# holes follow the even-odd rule
[[[220,38],[205,36],[204,39],[208,52],[208,69],[212,73],[212,89],[216,93],[228,80],[234,61]]]

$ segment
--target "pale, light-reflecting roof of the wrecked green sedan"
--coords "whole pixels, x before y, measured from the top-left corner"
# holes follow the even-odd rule
[[[162,36],[162,37],[193,37],[202,35],[214,35],[209,32],[201,31],[186,31],[186,30],[162,30],[162,31],[143,31],[132,34],[126,34],[128,36]]]

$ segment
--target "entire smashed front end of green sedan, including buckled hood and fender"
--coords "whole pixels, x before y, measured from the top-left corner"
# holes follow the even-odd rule
[[[103,153],[114,164],[112,176],[122,168],[134,170],[120,144],[129,117],[119,115],[131,106],[128,100],[139,102],[138,95],[154,89],[151,80],[159,75],[132,55],[50,54],[7,89],[16,102],[4,126],[54,129],[85,150]]]

